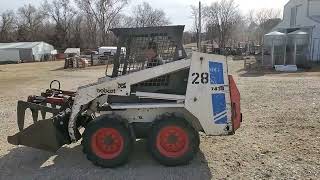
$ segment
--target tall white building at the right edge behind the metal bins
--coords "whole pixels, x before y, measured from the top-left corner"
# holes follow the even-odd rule
[[[308,33],[308,58],[320,62],[320,0],[290,0],[284,7],[282,22],[274,30]]]

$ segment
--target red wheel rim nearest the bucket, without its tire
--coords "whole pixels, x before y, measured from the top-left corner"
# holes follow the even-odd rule
[[[91,138],[92,151],[102,159],[114,159],[119,156],[123,146],[123,137],[114,128],[101,128]]]

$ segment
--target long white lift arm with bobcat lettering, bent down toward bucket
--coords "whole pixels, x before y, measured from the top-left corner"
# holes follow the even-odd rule
[[[97,83],[80,87],[75,97],[68,125],[71,140],[76,140],[74,131],[75,121],[83,105],[88,104],[102,95],[129,96],[131,94],[131,85],[182,69],[187,69],[190,66],[190,63],[190,59],[183,59],[117,78],[100,78]]]

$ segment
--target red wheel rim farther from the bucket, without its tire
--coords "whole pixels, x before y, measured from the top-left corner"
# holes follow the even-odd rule
[[[162,155],[178,158],[188,151],[189,137],[184,129],[167,126],[159,131],[156,146]]]

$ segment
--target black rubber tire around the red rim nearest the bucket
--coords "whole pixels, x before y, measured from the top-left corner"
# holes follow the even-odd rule
[[[102,157],[101,152],[103,151],[101,150],[101,148],[97,148],[98,145],[96,145],[98,142],[96,134],[102,130],[108,132],[106,131],[106,129],[111,129],[112,132],[116,132],[116,134],[118,135],[117,137],[121,137],[120,141],[122,143],[120,143],[121,145],[119,145],[121,146],[121,148],[116,146],[116,149],[119,149],[119,151],[116,151],[118,154],[116,153],[117,155],[115,155],[114,157]],[[111,145],[106,144],[106,138],[112,139],[112,142],[110,142]],[[99,145],[100,147],[108,146],[109,149],[114,149],[114,146],[112,146],[112,144],[114,143],[113,141],[115,141],[114,136],[108,136],[103,140],[104,145],[101,145],[100,140]],[[116,141],[119,142],[119,138]],[[90,160],[93,164],[104,168],[114,168],[127,163],[133,149],[133,144],[134,141],[129,128],[127,128],[119,120],[108,119],[108,117],[106,116],[100,116],[91,121],[83,133],[83,152],[87,155],[87,159]]]

